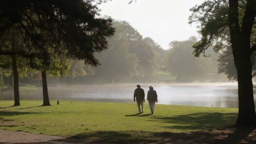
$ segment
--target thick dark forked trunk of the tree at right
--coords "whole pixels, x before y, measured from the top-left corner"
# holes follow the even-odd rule
[[[251,34],[256,16],[256,1],[247,0],[242,25],[239,23],[239,2],[229,0],[229,32],[234,62],[237,69],[239,111],[236,126],[253,126],[256,123],[252,84]]]

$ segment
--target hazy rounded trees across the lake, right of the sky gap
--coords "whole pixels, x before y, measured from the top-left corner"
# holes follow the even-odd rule
[[[217,74],[217,54],[209,51],[211,57],[194,57],[193,44],[197,40],[191,37],[185,41],[170,42],[166,68],[177,81],[191,81],[199,79],[216,79]],[[213,77],[214,76],[214,77]]]

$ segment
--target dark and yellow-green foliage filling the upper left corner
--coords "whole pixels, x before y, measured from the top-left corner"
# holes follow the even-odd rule
[[[17,55],[20,77],[38,71],[67,76],[70,59],[97,66],[94,53],[107,49],[106,38],[114,33],[112,20],[96,18],[98,12],[91,0],[4,0],[0,6],[0,54]],[[10,68],[5,61],[1,66]]]

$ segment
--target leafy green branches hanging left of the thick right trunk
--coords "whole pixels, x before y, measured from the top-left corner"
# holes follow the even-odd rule
[[[192,15],[189,17],[189,23],[199,22],[197,28],[202,35],[202,39],[193,46],[195,48],[193,54],[196,57],[201,53],[204,54],[214,42],[220,44],[220,39],[226,37],[226,33],[225,35],[223,33],[228,29],[228,10],[227,0],[207,0],[190,9]]]

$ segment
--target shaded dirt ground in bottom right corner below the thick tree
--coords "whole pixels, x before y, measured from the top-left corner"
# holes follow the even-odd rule
[[[164,143],[256,143],[256,130],[255,127],[232,127],[192,131],[190,133],[155,132],[154,137],[163,138]]]

